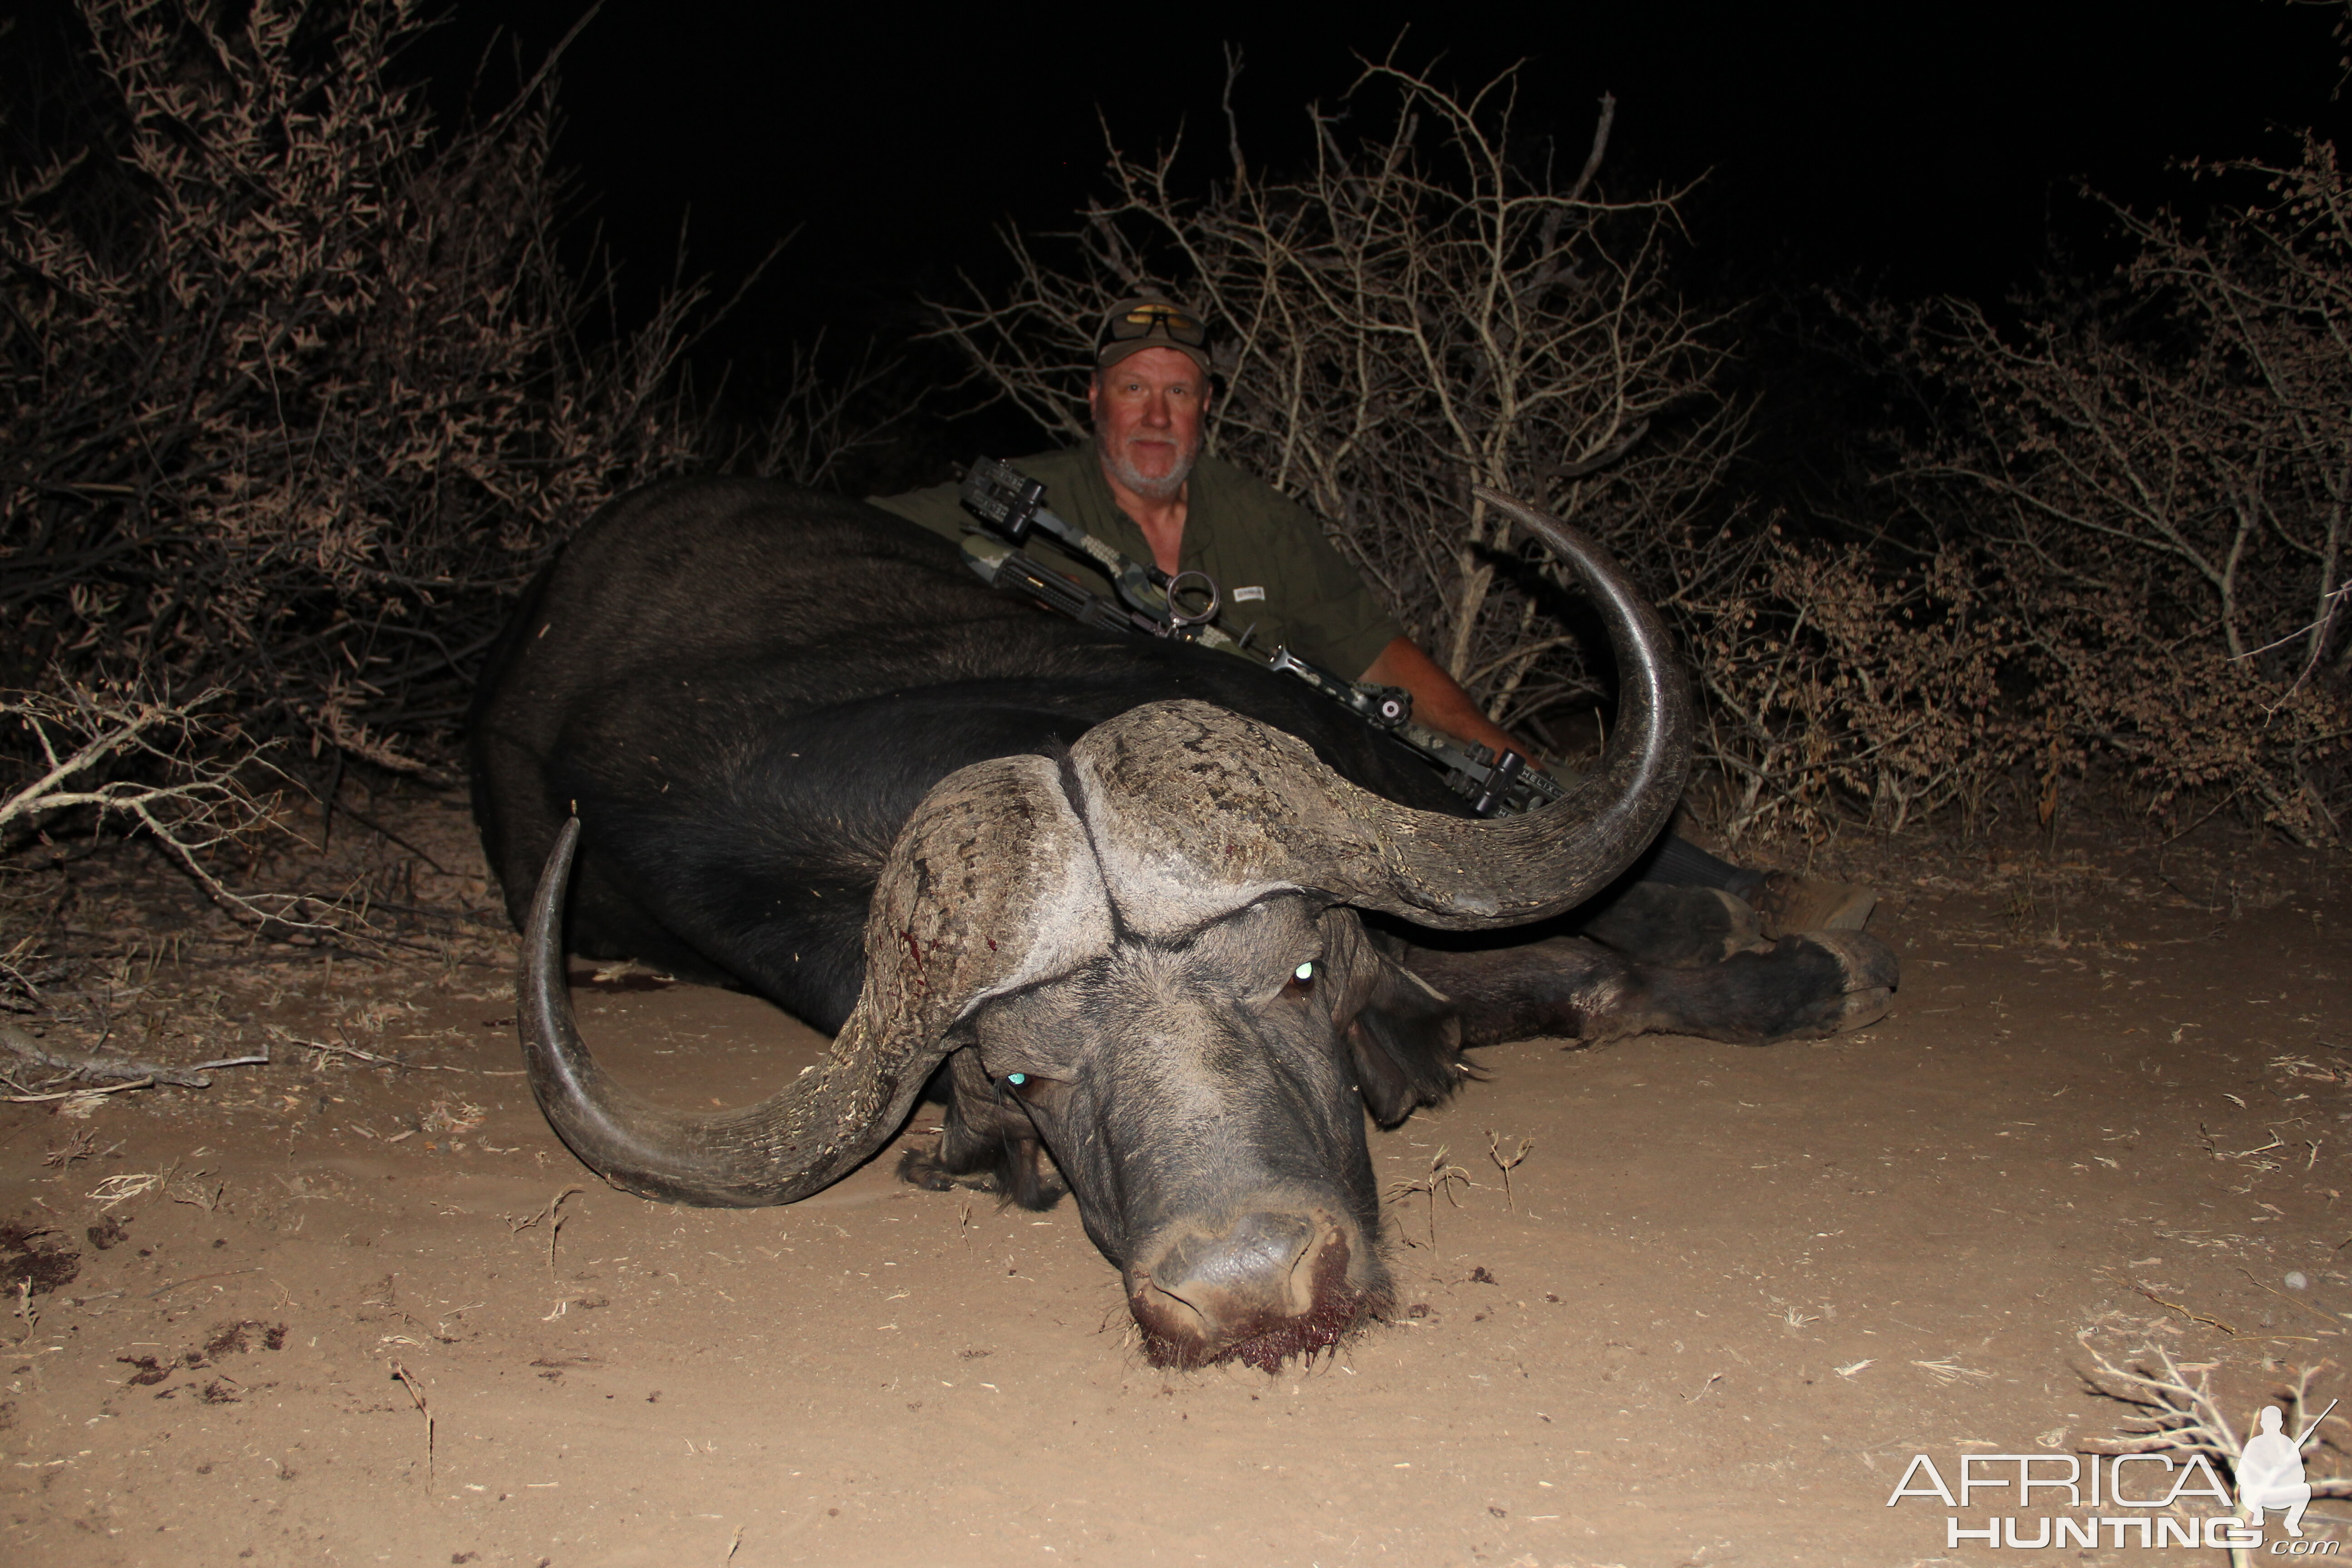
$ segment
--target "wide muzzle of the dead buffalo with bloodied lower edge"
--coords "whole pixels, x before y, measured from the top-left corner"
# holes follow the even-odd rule
[[[1381,1307],[1348,1281],[1338,1225],[1303,1213],[1247,1213],[1223,1237],[1190,1232],[1127,1276],[1127,1309],[1152,1366],[1242,1361],[1272,1373],[1312,1356]]]

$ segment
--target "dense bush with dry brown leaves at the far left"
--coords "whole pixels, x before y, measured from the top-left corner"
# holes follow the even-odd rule
[[[407,0],[80,14],[89,139],[0,186],[0,675],[416,769],[557,531],[694,458],[701,294],[583,348],[548,71],[440,134]]]

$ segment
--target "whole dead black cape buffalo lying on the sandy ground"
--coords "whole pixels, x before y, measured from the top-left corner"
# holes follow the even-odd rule
[[[1604,889],[1689,759],[1656,614],[1510,510],[1590,585],[1621,701],[1569,799],[1489,823],[1291,677],[1025,609],[875,508],[753,480],[614,501],[470,724],[548,1121],[630,1192],[790,1204],[929,1084],[946,1133],[910,1178],[995,1173],[1037,1208],[1058,1178],[1155,1361],[1272,1368],[1385,1305],[1364,1112],[1442,1100],[1465,1048],[1884,1013],[1884,945],[1766,945],[1722,893],[1639,884],[1588,926],[1609,945],[1463,936]],[[581,1046],[567,943],[746,985],[833,1048],[757,1105],[654,1107]]]

